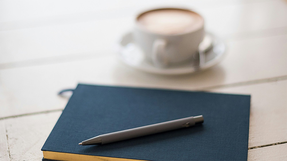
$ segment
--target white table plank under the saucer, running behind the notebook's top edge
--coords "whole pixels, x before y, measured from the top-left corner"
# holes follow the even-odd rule
[[[75,88],[78,82],[199,90],[287,75],[286,35],[234,41],[227,45],[226,58],[219,65],[193,75],[144,73],[122,65],[115,55],[2,69],[0,117],[64,108],[67,99],[57,96],[57,92]]]

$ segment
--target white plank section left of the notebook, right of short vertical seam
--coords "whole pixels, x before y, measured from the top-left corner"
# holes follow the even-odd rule
[[[62,112],[2,120],[7,127],[11,161],[41,160],[41,148]],[[2,144],[1,144],[2,146]]]

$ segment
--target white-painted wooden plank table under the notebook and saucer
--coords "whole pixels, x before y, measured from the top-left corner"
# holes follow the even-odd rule
[[[251,94],[248,160],[287,158],[287,1],[0,1],[0,160],[41,160],[78,82]],[[114,44],[138,11],[193,8],[226,43],[224,60],[192,75],[131,69]]]

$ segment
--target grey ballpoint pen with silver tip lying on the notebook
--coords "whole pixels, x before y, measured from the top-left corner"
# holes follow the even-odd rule
[[[166,132],[170,130],[175,130],[179,128],[187,128],[189,126],[194,126],[196,124],[203,123],[203,116],[192,116],[187,118],[181,118],[177,120],[161,122],[158,124],[152,124],[147,126],[141,126],[138,128],[132,128],[128,130],[122,130],[118,132],[112,132],[108,134],[102,134],[94,138],[82,141],[79,145],[101,145],[108,144],[112,142],[117,142],[121,140],[127,140],[131,138],[137,138],[140,136],[146,136],[150,134],[156,134],[160,132]]]

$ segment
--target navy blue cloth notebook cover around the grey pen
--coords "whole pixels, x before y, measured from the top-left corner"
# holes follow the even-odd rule
[[[79,84],[41,150],[137,160],[247,160],[249,109],[249,95]],[[198,126],[78,145],[100,134],[198,115],[204,117]]]

